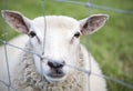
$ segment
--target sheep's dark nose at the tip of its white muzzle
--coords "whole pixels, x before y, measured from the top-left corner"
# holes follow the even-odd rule
[[[53,60],[49,60],[48,61],[48,65],[51,68],[51,69],[61,69],[63,68],[65,64],[64,61],[53,61]]]

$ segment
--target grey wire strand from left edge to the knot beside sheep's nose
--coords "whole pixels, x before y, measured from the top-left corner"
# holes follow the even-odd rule
[[[29,50],[25,50],[25,49],[23,49],[23,48],[20,48],[20,47],[17,47],[17,46],[10,44],[10,43],[8,43],[7,41],[2,41],[2,40],[0,40],[0,42],[2,42],[3,44],[10,46],[10,47],[12,47],[12,48],[16,48],[16,49],[22,50],[22,51],[24,51],[24,52],[32,53],[32,54],[37,54],[38,57],[41,58],[40,54],[38,54],[38,53],[33,52],[33,51],[29,51]]]

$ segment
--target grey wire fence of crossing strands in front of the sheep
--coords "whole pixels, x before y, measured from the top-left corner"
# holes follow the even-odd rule
[[[33,51],[29,51],[29,50],[25,50],[23,48],[20,48],[20,47],[17,47],[17,46],[13,46],[13,44],[10,44],[8,41],[7,41],[7,26],[4,24],[4,40],[1,40],[0,39],[0,42],[2,42],[4,44],[4,52],[6,52],[6,63],[7,63],[7,72],[8,72],[8,79],[9,79],[9,82],[4,82],[2,80],[0,80],[0,83],[4,84],[7,88],[8,88],[8,91],[11,91],[11,90],[14,90],[14,91],[19,91],[17,90],[14,87],[12,87],[11,84],[11,78],[10,78],[10,69],[9,69],[9,60],[8,60],[8,50],[7,50],[7,46],[9,47],[12,47],[14,49],[18,49],[18,50],[22,50],[24,52],[28,52],[28,53],[31,53],[31,54],[35,54],[38,55],[40,59],[43,59],[43,54],[44,54],[44,46],[45,46],[45,34],[47,34],[47,22],[45,22],[45,9],[44,9],[44,0],[40,0],[41,1],[41,8],[42,8],[42,16],[44,17],[44,39],[43,39],[43,53],[40,55]],[[123,13],[123,14],[133,14],[133,11],[130,11],[130,10],[121,10],[121,9],[114,9],[114,8],[109,8],[109,7],[103,7],[103,6],[98,6],[98,4],[94,4],[93,3],[93,0],[91,0],[90,2],[78,2],[78,1],[71,1],[71,0],[53,0],[53,1],[58,1],[58,2],[64,2],[64,3],[71,3],[71,4],[79,4],[79,6],[83,6],[83,7],[86,7],[89,8],[89,16],[91,14],[91,9],[92,8],[95,8],[95,9],[102,9],[102,10],[108,10],[108,11],[113,11],[113,12],[116,12],[116,13]],[[6,2],[7,0],[3,0],[3,4],[6,6]],[[6,8],[3,8],[6,9]],[[91,61],[90,61],[91,62]],[[90,63],[91,64],[91,63]],[[66,64],[69,68],[72,68],[74,70],[78,70],[80,72],[83,72],[83,73],[86,73],[88,75],[92,74],[92,75],[95,75],[95,77],[99,77],[99,78],[103,78],[103,79],[106,79],[109,81],[113,81],[115,83],[119,83],[125,88],[129,88],[131,90],[133,90],[133,84],[129,84],[122,80],[119,80],[116,78],[111,78],[111,77],[108,77],[105,74],[98,74],[98,73],[93,73],[91,72],[91,70],[85,70],[85,69],[82,69],[80,67],[76,67],[76,65],[72,65],[72,64]],[[41,68],[41,71],[42,71],[42,64],[40,65]],[[90,65],[90,69],[91,69],[91,65]],[[43,80],[43,77],[42,77],[42,80]],[[90,88],[90,83],[89,83],[89,88]],[[42,90],[43,91],[43,88]]]

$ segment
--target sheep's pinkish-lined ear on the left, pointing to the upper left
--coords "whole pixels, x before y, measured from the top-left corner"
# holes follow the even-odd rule
[[[6,22],[12,27],[14,30],[21,33],[28,33],[30,29],[30,20],[22,16],[20,12],[10,11],[10,10],[2,10],[2,17],[4,18]]]

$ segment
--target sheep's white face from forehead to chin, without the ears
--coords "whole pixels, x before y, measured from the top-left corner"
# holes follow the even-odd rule
[[[35,37],[30,41],[33,51],[39,54],[44,52],[42,62],[34,54],[35,65],[49,81],[60,81],[72,72],[68,64],[76,64],[81,36],[80,24],[79,21],[66,17],[45,17],[47,27],[43,21],[42,17],[32,21],[33,31],[31,31],[35,33]]]

